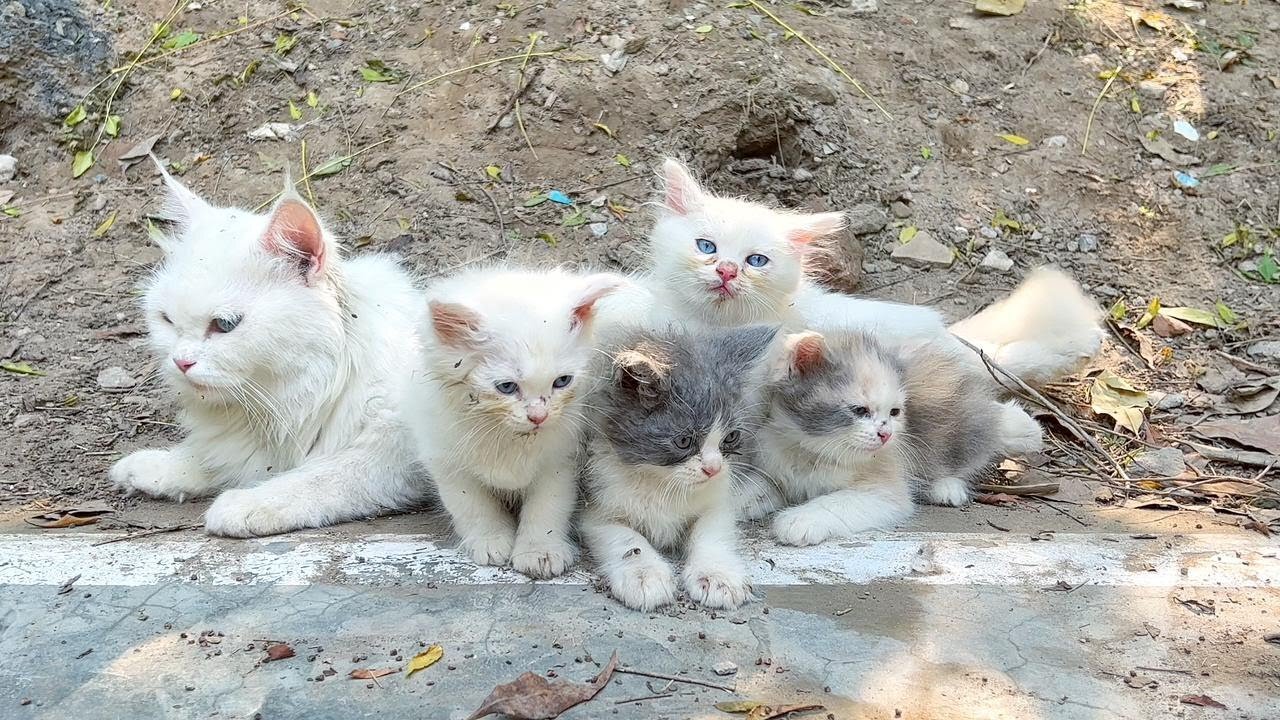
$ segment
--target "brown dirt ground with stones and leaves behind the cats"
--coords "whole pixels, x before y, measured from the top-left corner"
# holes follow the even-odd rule
[[[136,302],[159,255],[145,232],[157,176],[120,160],[151,137],[223,204],[265,204],[305,167],[300,188],[352,252],[402,254],[424,277],[481,260],[643,266],[664,155],[719,192],[852,210],[842,274],[870,296],[960,318],[1056,263],[1103,307],[1123,301],[1120,337],[1155,359],[1116,343],[1100,365],[1185,400],[1149,411],[1146,443],[1213,411],[1248,364],[1263,375],[1251,382],[1276,374],[1275,1],[1032,3],[1014,17],[763,5],[815,49],[741,5],[212,0],[179,3],[155,42],[168,4],[0,8],[0,154],[17,159],[0,182],[0,506],[110,497],[114,459],[175,437]],[[288,138],[252,140],[265,123],[288,123]],[[73,178],[86,147],[95,164]],[[554,190],[575,205],[539,202]],[[891,259],[910,228],[956,261]],[[991,250],[1012,270],[979,266]],[[1133,329],[1156,297],[1222,302],[1236,323],[1170,340]],[[1057,388],[1068,411],[1089,415],[1088,383]],[[1225,468],[1208,471],[1257,470]]]

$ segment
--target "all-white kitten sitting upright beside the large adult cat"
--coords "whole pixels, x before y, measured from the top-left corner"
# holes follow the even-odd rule
[[[573,562],[570,520],[595,302],[625,282],[484,268],[428,291],[424,360],[410,380],[407,418],[476,562],[509,562],[534,578]]]

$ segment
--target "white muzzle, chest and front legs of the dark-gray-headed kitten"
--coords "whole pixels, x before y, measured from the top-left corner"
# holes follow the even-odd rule
[[[662,551],[684,546],[681,583],[708,607],[733,609],[751,594],[746,565],[737,552],[730,496],[732,466],[719,454],[722,433],[713,429],[701,451],[673,468],[627,465],[591,441],[582,538],[627,607],[653,610],[676,600],[676,571]],[[704,465],[723,470],[708,479]]]

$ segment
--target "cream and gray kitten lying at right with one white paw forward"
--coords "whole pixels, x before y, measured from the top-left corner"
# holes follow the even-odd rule
[[[781,497],[748,512],[799,503],[773,520],[786,544],[900,523],[913,491],[963,505],[996,457],[1041,443],[1036,421],[963,359],[863,333],[787,336],[768,397],[759,462]]]

